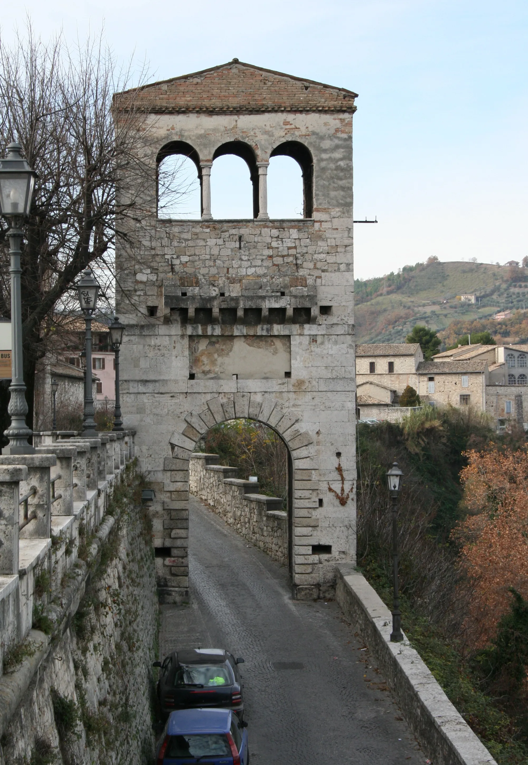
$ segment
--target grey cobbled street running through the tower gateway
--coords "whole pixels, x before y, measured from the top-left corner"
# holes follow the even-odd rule
[[[424,763],[337,604],[292,601],[286,569],[194,497],[189,526],[191,604],[161,607],[161,655],[225,647],[245,659],[253,765]]]

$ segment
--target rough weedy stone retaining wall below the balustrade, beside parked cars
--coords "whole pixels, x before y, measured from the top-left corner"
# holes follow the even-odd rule
[[[28,690],[3,728],[2,765],[152,762],[152,527],[130,489],[115,494],[64,578],[57,623],[39,624],[51,634],[31,630],[5,660],[4,691]]]

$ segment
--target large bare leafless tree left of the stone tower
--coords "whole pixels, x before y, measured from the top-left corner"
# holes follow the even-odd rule
[[[131,88],[132,80],[135,86]],[[145,122],[145,104],[135,109],[145,69],[120,67],[103,33],[70,48],[59,35],[44,43],[28,23],[8,46],[0,37],[0,151],[18,141],[38,173],[24,224],[21,257],[24,381],[28,424],[33,414],[34,374],[60,317],[77,310],[74,283],[91,265],[108,310],[114,291],[116,236],[126,240],[142,220],[139,203],[116,196],[121,175],[141,176],[145,167],[135,138]],[[126,91],[119,126],[112,95]],[[145,96],[143,95],[143,99]],[[132,184],[140,188],[141,184]],[[10,315],[7,223],[0,223],[0,314]],[[104,309],[104,305],[103,305]],[[67,323],[67,322],[66,322]],[[7,390],[0,395],[4,416]],[[5,426],[0,422],[0,432]]]

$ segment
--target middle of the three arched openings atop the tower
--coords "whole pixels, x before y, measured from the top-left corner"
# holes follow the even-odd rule
[[[259,171],[255,152],[243,141],[227,142],[213,154],[211,213],[213,218],[220,219],[256,218],[259,215]]]

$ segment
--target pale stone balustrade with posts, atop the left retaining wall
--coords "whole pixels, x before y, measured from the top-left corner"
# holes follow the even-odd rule
[[[81,438],[34,434],[34,454],[0,456],[0,675],[77,564],[81,535],[93,532],[126,464],[135,431]]]

